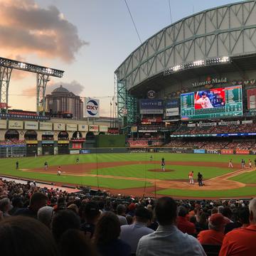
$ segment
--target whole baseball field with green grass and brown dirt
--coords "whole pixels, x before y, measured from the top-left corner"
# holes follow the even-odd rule
[[[166,171],[161,171],[162,158]],[[228,168],[230,159],[233,168]],[[245,159],[246,168],[241,168],[241,159]],[[58,185],[91,186],[133,196],[247,198],[256,196],[254,160],[254,156],[216,154],[70,154],[0,159],[0,174]],[[58,166],[62,171],[60,176],[57,176]],[[194,172],[193,185],[188,183],[190,171]],[[203,174],[202,187],[196,182],[198,172]]]

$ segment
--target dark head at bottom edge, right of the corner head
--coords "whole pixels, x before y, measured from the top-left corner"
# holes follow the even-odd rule
[[[85,235],[76,229],[69,229],[61,235],[58,248],[61,256],[97,256],[90,240],[87,240]]]

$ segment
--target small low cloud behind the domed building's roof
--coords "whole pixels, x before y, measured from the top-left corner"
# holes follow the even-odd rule
[[[69,90],[70,92],[73,92],[75,95],[80,95],[80,93],[82,92],[83,90],[83,86],[73,80],[72,82],[53,82],[53,81],[50,81],[48,83],[48,85],[46,85],[46,95],[47,94],[50,94],[54,89],[60,87],[60,85],[62,85],[65,89]],[[36,96],[36,85],[35,86],[31,86],[31,87],[28,87],[26,89],[23,90],[22,92],[23,95],[26,95],[26,96]]]

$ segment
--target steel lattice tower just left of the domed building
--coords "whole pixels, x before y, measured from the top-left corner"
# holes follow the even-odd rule
[[[46,84],[50,81],[49,75],[36,74],[36,111],[46,113]]]

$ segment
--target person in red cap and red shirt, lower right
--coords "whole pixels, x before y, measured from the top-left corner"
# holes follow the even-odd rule
[[[222,245],[224,238],[225,220],[222,214],[214,213],[209,218],[209,230],[203,230],[198,234],[198,240],[202,245]]]

